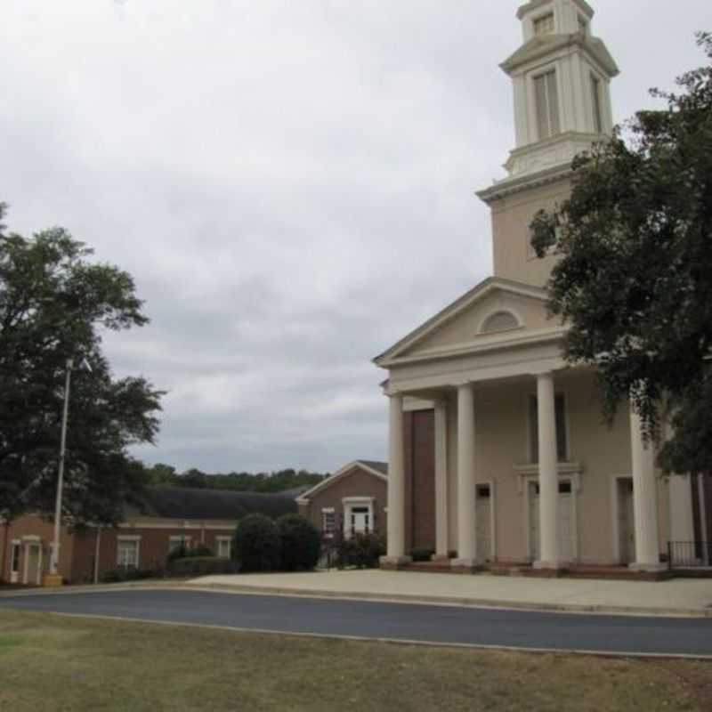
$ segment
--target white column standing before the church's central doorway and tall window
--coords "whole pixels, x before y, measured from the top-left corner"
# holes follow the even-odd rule
[[[539,445],[539,561],[540,569],[561,564],[559,553],[559,473],[556,455],[556,407],[554,374],[537,376]]]

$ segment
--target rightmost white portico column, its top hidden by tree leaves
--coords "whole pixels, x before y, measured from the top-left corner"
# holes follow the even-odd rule
[[[633,469],[633,517],[635,520],[635,563],[637,570],[657,570],[660,565],[658,546],[658,497],[655,481],[655,449],[643,439],[640,416],[630,411],[630,457]]]

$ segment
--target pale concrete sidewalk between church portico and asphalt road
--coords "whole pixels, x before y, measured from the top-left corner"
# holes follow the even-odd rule
[[[347,570],[205,576],[192,579],[188,586],[235,593],[712,618],[712,579],[605,581]]]

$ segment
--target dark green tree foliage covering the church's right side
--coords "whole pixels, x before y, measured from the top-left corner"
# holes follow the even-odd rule
[[[708,65],[652,90],[641,111],[573,164],[570,198],[532,223],[538,255],[560,260],[549,310],[570,324],[565,357],[600,374],[609,420],[630,393],[648,436],[676,413],[660,464],[712,470],[712,36]]]

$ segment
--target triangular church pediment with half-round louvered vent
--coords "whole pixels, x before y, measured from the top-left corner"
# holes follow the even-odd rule
[[[408,358],[448,347],[516,337],[552,328],[546,313],[546,292],[508,279],[490,278],[449,304],[376,359]]]

